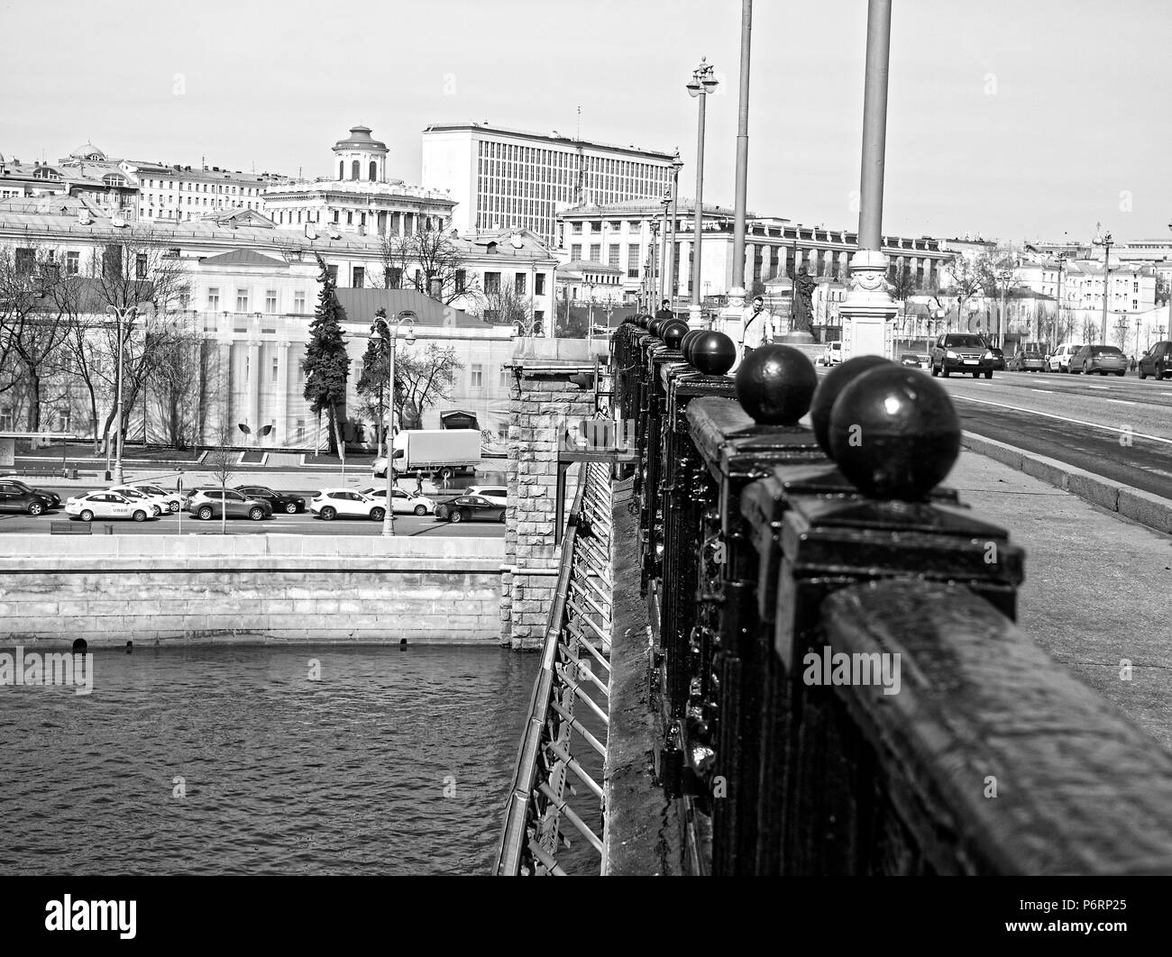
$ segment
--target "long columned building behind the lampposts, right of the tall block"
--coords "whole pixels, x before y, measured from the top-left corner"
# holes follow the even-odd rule
[[[681,198],[676,204],[676,235],[672,257],[675,278],[672,298],[691,293],[691,248],[695,204]],[[607,205],[584,204],[558,213],[558,254],[563,261],[586,259],[618,266],[625,271],[624,293],[634,301],[648,276],[659,276],[665,255],[665,207],[660,201],[634,200]],[[734,211],[704,204],[701,257],[701,295],[721,296],[732,286]],[[670,221],[667,221],[670,230]],[[778,276],[793,276],[804,267],[812,276],[845,280],[850,257],[858,248],[854,232],[805,226],[777,217],[748,216],[745,235],[745,286],[764,283]],[[942,267],[953,253],[940,248],[935,239],[884,237],[884,253],[890,259],[888,279],[900,271],[924,288],[935,289]],[[655,288],[656,282],[650,282]]]

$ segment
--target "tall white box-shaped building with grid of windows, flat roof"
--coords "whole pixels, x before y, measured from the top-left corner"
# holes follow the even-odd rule
[[[461,235],[523,227],[552,244],[558,210],[582,201],[621,203],[663,196],[677,157],[490,127],[434,123],[423,131],[423,185],[459,204]]]

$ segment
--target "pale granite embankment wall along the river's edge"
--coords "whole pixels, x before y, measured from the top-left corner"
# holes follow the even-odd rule
[[[2,535],[0,641],[481,644],[499,538]]]

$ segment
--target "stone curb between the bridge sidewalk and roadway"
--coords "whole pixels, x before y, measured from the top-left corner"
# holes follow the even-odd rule
[[[1109,512],[1116,512],[1157,532],[1172,535],[1172,500],[1163,495],[1132,488],[1130,485],[1111,481],[1064,462],[1027,452],[973,432],[961,432],[961,445],[1056,488],[1078,495]]]

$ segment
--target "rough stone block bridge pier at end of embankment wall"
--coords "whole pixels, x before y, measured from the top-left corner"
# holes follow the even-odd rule
[[[511,648],[540,648],[545,638],[568,511],[566,477],[578,467],[559,452],[567,429],[594,415],[595,357],[608,354],[607,340],[518,339],[505,367],[512,381],[500,643]]]

